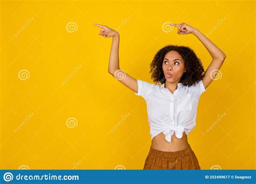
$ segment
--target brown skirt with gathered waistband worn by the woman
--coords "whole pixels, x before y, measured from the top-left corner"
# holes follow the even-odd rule
[[[201,169],[192,148],[166,152],[150,146],[143,169]]]

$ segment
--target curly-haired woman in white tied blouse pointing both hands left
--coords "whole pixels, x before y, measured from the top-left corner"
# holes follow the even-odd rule
[[[136,80],[121,70],[119,33],[94,25],[102,28],[99,35],[113,38],[109,73],[146,101],[152,142],[143,169],[200,169],[187,135],[196,126],[200,95],[214,80],[226,55],[198,29],[185,23],[169,24],[178,27],[178,34],[194,34],[211,54],[212,62],[204,72],[191,48],[167,45],[159,49],[151,63],[152,79],[161,86]]]

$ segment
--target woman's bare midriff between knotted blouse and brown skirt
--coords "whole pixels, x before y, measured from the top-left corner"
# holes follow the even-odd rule
[[[153,137],[151,141],[151,146],[155,150],[173,152],[185,150],[189,147],[189,144],[187,142],[187,135],[185,132],[183,132],[183,137],[181,138],[177,138],[175,136],[175,133],[173,133],[171,143],[169,143],[169,141],[165,139],[164,133],[161,132]]]

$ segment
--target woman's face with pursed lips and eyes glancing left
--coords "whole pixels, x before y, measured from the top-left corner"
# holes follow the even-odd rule
[[[177,51],[170,51],[165,54],[163,71],[166,82],[180,82],[180,78],[185,72],[185,61]]]

